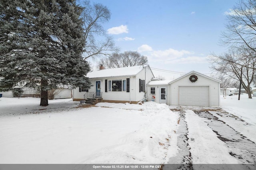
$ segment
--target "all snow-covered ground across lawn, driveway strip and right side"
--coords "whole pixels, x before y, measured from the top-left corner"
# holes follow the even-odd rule
[[[210,121],[195,113],[209,109],[255,143],[256,97],[237,97],[221,97],[227,113],[182,107],[190,162],[242,163],[209,127]],[[166,164],[181,152],[176,133],[182,133],[181,118],[170,110],[174,106],[146,102],[79,107],[71,99],[49,100],[46,107],[39,103],[39,98],[0,98],[0,164]]]

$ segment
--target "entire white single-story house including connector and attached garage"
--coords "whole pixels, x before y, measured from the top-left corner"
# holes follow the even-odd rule
[[[132,66],[96,70],[87,74],[90,89],[74,89],[74,101],[86,95],[98,96],[103,102],[137,103],[148,101],[168,105],[220,106],[220,80],[196,71],[175,80],[156,80],[150,66]]]

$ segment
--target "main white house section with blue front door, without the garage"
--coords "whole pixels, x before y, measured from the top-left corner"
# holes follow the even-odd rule
[[[103,102],[137,103],[145,98],[146,84],[154,78],[150,66],[94,70],[86,75],[92,87],[76,88],[73,100],[101,98]]]

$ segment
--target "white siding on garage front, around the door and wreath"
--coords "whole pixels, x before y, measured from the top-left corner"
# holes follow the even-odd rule
[[[206,78],[204,76],[200,76],[198,74],[194,74],[198,77],[198,80],[196,82],[190,82],[189,77],[192,74],[189,74],[180,80],[177,80],[176,82],[171,83],[171,98],[170,103],[171,105],[178,105],[179,101],[179,86],[209,86],[209,106],[212,107],[218,107],[219,99],[220,99],[220,84],[214,80],[211,80],[209,78]]]

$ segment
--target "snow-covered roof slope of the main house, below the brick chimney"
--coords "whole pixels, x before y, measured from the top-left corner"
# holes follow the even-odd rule
[[[110,68],[104,70],[94,70],[86,76],[88,78],[115,77],[115,76],[135,76],[143,69],[143,66],[131,66],[122,68]]]

